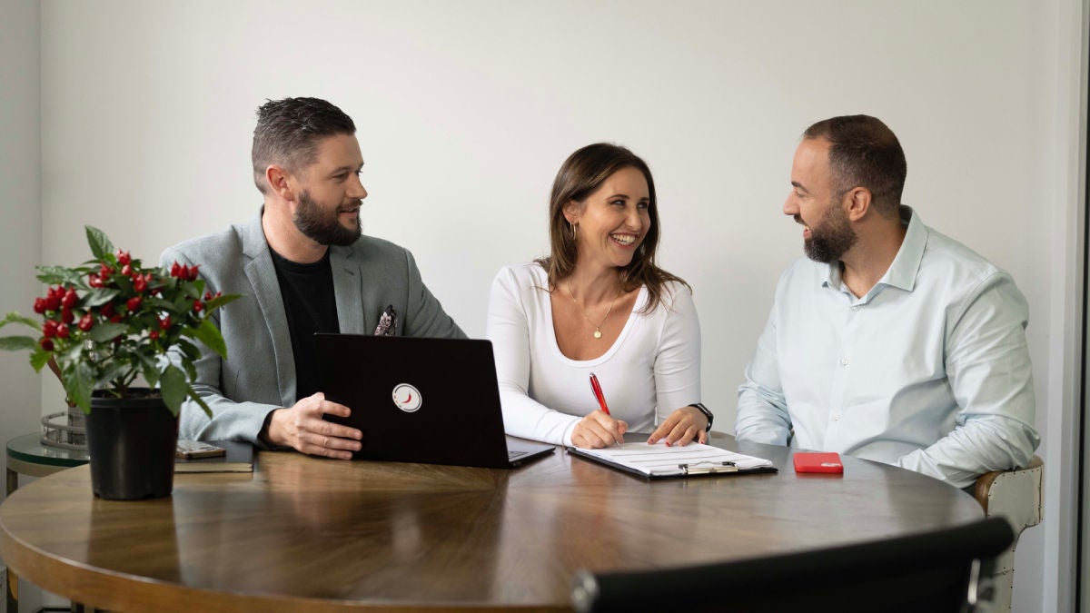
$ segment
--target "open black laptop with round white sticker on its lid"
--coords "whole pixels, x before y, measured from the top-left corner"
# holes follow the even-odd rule
[[[556,447],[504,433],[492,342],[316,334],[325,419],[363,432],[358,459],[512,468]]]

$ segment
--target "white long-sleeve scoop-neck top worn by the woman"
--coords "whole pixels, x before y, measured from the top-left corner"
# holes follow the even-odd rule
[[[592,372],[630,432],[650,433],[675,409],[700,401],[700,322],[687,287],[667,284],[649,313],[640,313],[649,298],[640,288],[620,336],[593,360],[560,352],[547,288],[537,264],[505,266],[492,284],[487,335],[508,434],[570,445],[579,420],[598,408]]]

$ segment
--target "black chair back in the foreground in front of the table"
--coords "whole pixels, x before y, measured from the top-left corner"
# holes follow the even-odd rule
[[[991,562],[1014,542],[991,518],[911,537],[798,554],[634,573],[581,570],[581,613],[663,611],[972,611],[990,598]]]

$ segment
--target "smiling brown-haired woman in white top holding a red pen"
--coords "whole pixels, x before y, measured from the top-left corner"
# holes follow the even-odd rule
[[[488,302],[507,433],[591,448],[627,431],[705,442],[700,323],[689,286],[655,265],[647,165],[616,145],[577,151],[553,183],[549,217],[552,254],[505,266]]]

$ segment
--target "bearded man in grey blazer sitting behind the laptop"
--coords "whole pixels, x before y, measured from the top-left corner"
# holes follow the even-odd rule
[[[350,409],[323,396],[315,333],[465,335],[427,290],[412,254],[362,236],[363,156],[355,124],[317,98],[257,110],[249,223],[193,239],[160,262],[198,265],[209,292],[242,295],[213,315],[229,360],[202,349],[194,388],[211,408],[182,407],[180,436],[350,459],[362,433],[322,419]]]

